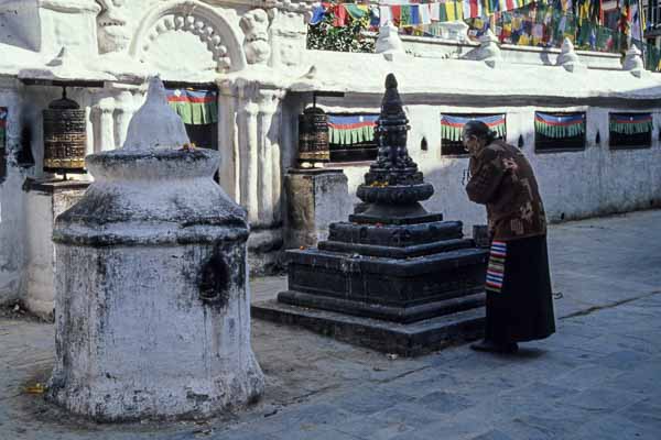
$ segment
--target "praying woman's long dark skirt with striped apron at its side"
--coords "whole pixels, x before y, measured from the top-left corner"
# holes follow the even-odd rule
[[[555,332],[545,235],[494,241],[486,288],[485,339],[521,342]]]

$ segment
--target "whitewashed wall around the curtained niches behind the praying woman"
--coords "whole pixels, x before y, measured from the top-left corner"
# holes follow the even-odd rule
[[[402,97],[405,103],[405,96]],[[338,105],[322,107],[328,112],[378,112],[378,107]],[[346,102],[355,103],[348,98]],[[371,101],[371,99],[370,99]],[[544,107],[448,107],[405,106],[410,119],[408,148],[410,155],[434,185],[435,193],[424,202],[429,210],[441,211],[446,220],[464,221],[464,232],[473,224],[486,224],[485,208],[470,202],[464,191],[467,157],[441,155],[441,113],[506,113],[508,142],[517,145],[522,135],[522,151],[531,162],[550,221],[579,219],[614,212],[625,212],[661,206],[661,109],[602,108],[567,106]],[[535,153],[535,111],[585,111],[587,116],[586,148],[577,152]],[[653,113],[652,146],[637,150],[610,150],[608,146],[608,113],[611,111],[648,111]],[[600,143],[595,139],[599,132]],[[421,150],[422,139],[427,151]],[[327,166],[334,166],[328,164]],[[369,167],[366,164],[342,165],[349,180],[349,195],[355,204],[358,185]],[[346,219],[337,219],[346,220]]]

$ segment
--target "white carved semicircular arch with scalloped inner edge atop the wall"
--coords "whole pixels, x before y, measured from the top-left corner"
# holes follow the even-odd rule
[[[197,0],[174,0],[152,10],[143,20],[131,43],[130,55],[145,59],[151,44],[170,31],[184,31],[196,35],[213,54],[218,72],[234,72],[246,67],[246,56],[237,31],[224,16]]]

